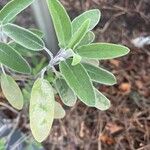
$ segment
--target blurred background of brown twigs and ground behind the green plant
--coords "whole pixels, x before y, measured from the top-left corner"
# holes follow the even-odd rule
[[[7,2],[0,0],[0,7]],[[23,111],[17,112],[7,104],[0,91],[0,138],[2,139],[5,133],[6,139],[13,144],[21,138],[14,150],[22,150],[23,145],[27,144],[30,145],[29,150],[150,150],[150,0],[61,2],[71,19],[86,10],[100,9],[102,17],[94,29],[95,42],[119,43],[131,50],[130,54],[123,58],[100,61],[100,65],[110,70],[118,80],[112,87],[98,85],[99,90],[111,100],[112,106],[104,112],[89,108],[79,101],[72,108],[65,107],[66,117],[56,120],[49,138],[42,145],[37,145],[33,144],[29,128],[28,103]],[[55,53],[58,49],[57,40],[51,21],[47,20],[47,11],[43,12],[44,6],[35,5],[23,11],[16,18],[16,23],[44,31],[47,45]],[[39,23],[37,13],[42,13],[41,16],[45,17],[42,21],[49,21],[50,24],[43,26]],[[50,33],[46,32],[48,28]],[[41,54],[35,55],[33,59],[33,66],[40,64],[34,68],[36,74],[46,63],[46,57]],[[17,79],[19,80],[19,77]],[[25,83],[19,84],[21,86]],[[23,90],[27,92],[30,88]],[[12,141],[10,139],[15,132],[19,135]],[[0,143],[2,142],[0,140]],[[9,142],[7,147],[12,150]]]

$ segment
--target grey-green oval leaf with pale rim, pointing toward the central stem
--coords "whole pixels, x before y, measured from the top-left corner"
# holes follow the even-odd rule
[[[44,48],[43,41],[27,29],[10,23],[3,26],[2,29],[7,36],[25,48],[33,51],[39,51]]]

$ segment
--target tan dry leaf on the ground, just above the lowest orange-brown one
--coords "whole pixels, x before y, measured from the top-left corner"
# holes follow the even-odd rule
[[[106,125],[106,129],[110,132],[110,134],[115,134],[122,131],[124,128],[122,126],[117,125],[116,123],[109,122]]]

